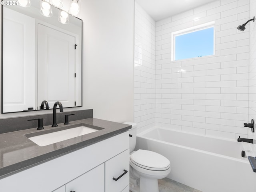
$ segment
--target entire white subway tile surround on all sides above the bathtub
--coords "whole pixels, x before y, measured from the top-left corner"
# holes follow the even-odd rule
[[[250,9],[253,17],[251,2],[254,8],[249,0],[216,0],[156,23],[136,4],[134,118],[141,131],[156,125],[230,139],[248,135],[248,103],[256,119],[256,27],[236,27]],[[213,56],[171,61],[172,32],[212,21]]]

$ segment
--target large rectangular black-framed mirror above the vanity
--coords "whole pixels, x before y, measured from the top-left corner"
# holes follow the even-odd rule
[[[2,6],[2,113],[82,106],[82,20],[51,8]]]

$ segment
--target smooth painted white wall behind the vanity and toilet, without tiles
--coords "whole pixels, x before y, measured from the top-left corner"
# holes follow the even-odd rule
[[[83,107],[64,111],[92,108],[95,118],[133,121],[134,0],[82,0],[79,18]],[[43,113],[0,114],[0,118]]]

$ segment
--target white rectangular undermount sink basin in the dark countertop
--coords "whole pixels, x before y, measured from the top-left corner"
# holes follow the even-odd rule
[[[97,129],[89,128],[86,126],[79,126],[75,128],[65,129],[61,131],[56,131],[52,133],[42,134],[38,136],[28,137],[32,142],[38,144],[39,146],[46,146],[74,137],[82,136],[88,133],[96,132]]]

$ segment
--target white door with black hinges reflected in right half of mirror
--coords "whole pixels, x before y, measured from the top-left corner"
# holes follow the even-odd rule
[[[75,105],[76,37],[38,24],[38,106],[47,100]]]

